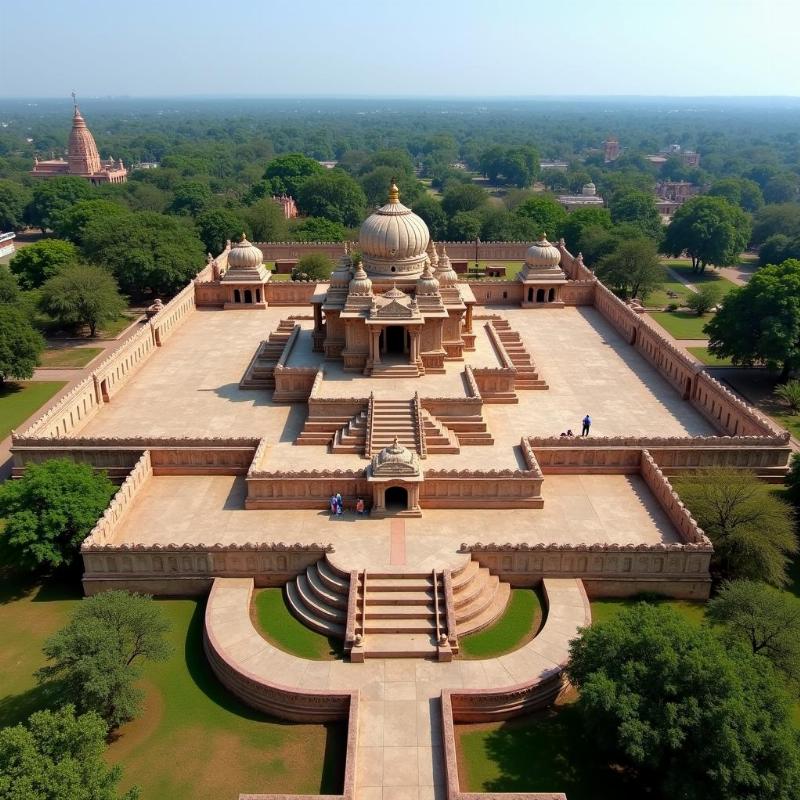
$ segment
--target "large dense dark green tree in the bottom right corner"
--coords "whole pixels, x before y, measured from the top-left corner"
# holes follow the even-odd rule
[[[710,630],[639,603],[570,644],[567,674],[592,746],[642,795],[794,800],[800,743],[773,670]]]

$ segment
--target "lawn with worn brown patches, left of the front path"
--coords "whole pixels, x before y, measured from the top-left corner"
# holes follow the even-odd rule
[[[26,586],[4,577],[0,725],[41,707],[33,672],[42,664],[42,643],[79,602],[76,583]],[[173,653],[146,666],[144,712],[120,729],[108,750],[109,761],[124,769],[123,786],[140,786],[143,800],[340,793],[344,727],[278,722],[239,703],[203,654],[204,602],[157,602],[171,623]]]

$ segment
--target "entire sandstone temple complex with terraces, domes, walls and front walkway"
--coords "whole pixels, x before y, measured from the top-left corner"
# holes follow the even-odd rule
[[[207,595],[231,692],[347,721],[343,800],[460,796],[454,724],[552,703],[589,598],[708,597],[713,548],[671,478],[788,463],[785,431],[563,241],[480,243],[524,261],[513,280],[460,277],[467,246],[432,242],[394,185],[357,244],[313,245],[338,254],[328,281],[271,280],[264,253],[300,245],[242,237],[13,433],[16,475],[60,456],[120,484],[82,546],[87,593]],[[264,586],[345,657],[261,637]],[[520,587],[542,628],[463,660]]]

